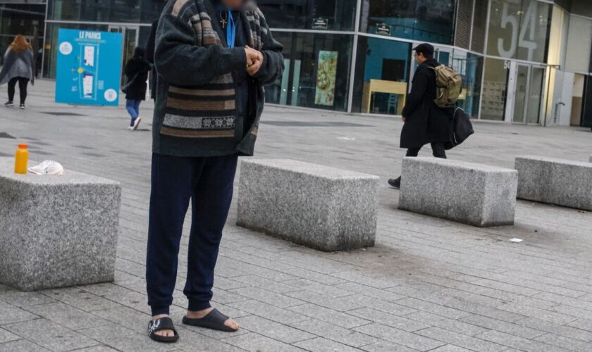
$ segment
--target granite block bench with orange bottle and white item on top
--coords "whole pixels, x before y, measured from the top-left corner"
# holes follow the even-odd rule
[[[118,182],[17,175],[0,158],[0,282],[22,291],[113,281]]]

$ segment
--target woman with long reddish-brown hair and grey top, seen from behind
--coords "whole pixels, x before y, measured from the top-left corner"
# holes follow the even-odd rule
[[[29,81],[35,84],[33,49],[27,39],[18,34],[4,54],[4,66],[0,71],[0,84],[8,82],[8,101],[4,106],[14,106],[15,87],[18,83],[20,108],[24,109]]]

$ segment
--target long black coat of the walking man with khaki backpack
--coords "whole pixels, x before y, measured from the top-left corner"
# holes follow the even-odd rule
[[[440,65],[431,58],[415,71],[411,93],[405,101],[403,117],[407,118],[401,131],[401,148],[420,148],[428,143],[449,142],[452,139],[454,108],[438,108],[436,99],[436,73]]]

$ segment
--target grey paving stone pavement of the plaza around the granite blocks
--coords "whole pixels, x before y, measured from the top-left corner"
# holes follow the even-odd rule
[[[515,226],[479,229],[397,210],[386,180],[400,172],[400,120],[276,107],[264,113],[256,157],[379,175],[376,247],[290,244],[235,226],[233,203],[214,304],[242,329],[180,324],[185,236],[173,306],[181,339],[155,344],[144,335],[152,103],[129,132],[123,107],[58,105],[52,89],[38,81],[27,110],[0,108],[0,132],[16,137],[0,138],[0,156],[26,142],[33,160],[121,182],[116,281],[27,293],[0,284],[0,351],[592,351],[592,214],[519,201]],[[475,127],[450,158],[512,168],[519,154],[586,161],[592,149],[584,129]]]

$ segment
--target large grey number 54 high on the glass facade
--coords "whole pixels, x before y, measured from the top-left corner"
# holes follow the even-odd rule
[[[512,27],[512,35],[510,37],[510,43],[507,43],[507,38],[498,38],[498,53],[500,53],[500,56],[513,58],[516,55],[518,47],[521,47],[528,51],[527,60],[534,60],[534,53],[538,47],[536,43],[537,6],[538,1],[530,0],[526,13],[522,15],[522,23],[519,23],[519,17],[510,13],[509,4],[506,3],[503,5],[500,27],[504,30]]]

